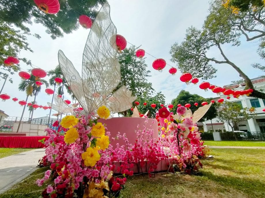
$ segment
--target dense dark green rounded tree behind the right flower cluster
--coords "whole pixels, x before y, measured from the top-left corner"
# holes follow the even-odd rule
[[[213,100],[213,98],[203,98],[202,96],[199,96],[198,94],[190,94],[190,92],[181,90],[177,98],[171,101],[171,104],[174,105],[171,111],[176,113],[178,104],[181,104],[182,106],[184,106],[186,103],[189,103],[191,105],[190,110],[192,111],[192,113],[194,113],[194,111],[196,111],[199,107],[202,106],[201,105],[202,102],[205,101],[205,102],[210,103],[211,100]],[[198,103],[198,107],[194,105],[195,102]],[[216,116],[217,116],[216,104],[214,103],[211,105],[207,113],[198,122],[203,122],[205,120],[211,120],[215,118]]]

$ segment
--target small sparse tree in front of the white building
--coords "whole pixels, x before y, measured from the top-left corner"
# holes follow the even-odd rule
[[[255,109],[252,108],[242,108],[240,104],[235,102],[225,101],[223,104],[219,104],[218,106],[218,118],[222,122],[228,123],[228,125],[232,128],[232,133],[237,140],[236,134],[234,133],[234,129],[238,127],[238,124],[242,121],[249,120],[255,116],[253,112]]]

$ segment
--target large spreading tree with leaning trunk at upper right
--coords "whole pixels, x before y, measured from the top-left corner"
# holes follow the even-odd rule
[[[246,89],[253,89],[251,96],[265,99],[265,94],[255,90],[249,77],[231,60],[223,51],[224,44],[240,45],[240,36],[245,36],[247,41],[259,40],[258,53],[265,58],[265,13],[264,7],[256,7],[248,11],[238,11],[225,6],[223,0],[211,1],[209,14],[201,30],[190,27],[187,29],[183,42],[171,46],[172,61],[178,63],[179,69],[190,72],[194,77],[211,79],[217,69],[211,62],[228,64],[233,67],[246,83]],[[208,52],[217,48],[223,59],[210,57]],[[257,64],[254,64],[257,67]],[[261,65],[258,65],[261,67]],[[257,68],[258,68],[257,67]]]

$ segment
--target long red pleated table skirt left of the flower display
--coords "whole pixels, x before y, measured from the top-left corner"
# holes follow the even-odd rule
[[[43,148],[44,144],[38,142],[38,140],[45,138],[48,139],[48,136],[0,136],[0,147],[5,148]]]

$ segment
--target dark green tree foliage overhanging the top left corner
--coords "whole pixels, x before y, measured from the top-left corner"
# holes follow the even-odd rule
[[[57,14],[46,14],[33,0],[1,0],[0,20],[14,24],[17,28],[30,32],[27,24],[35,23],[45,26],[46,32],[53,39],[62,37],[79,28],[80,15],[88,15],[92,20],[96,17],[99,5],[106,0],[64,0],[59,1],[60,11]]]

